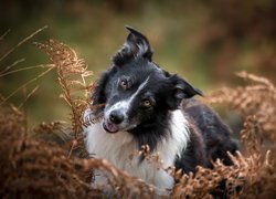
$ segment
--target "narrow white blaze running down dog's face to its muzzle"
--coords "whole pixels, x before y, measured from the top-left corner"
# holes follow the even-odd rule
[[[132,103],[132,101],[135,100],[135,97],[141,92],[141,90],[144,87],[146,87],[147,83],[149,81],[149,76],[147,77],[147,80],[139,85],[138,90],[127,100],[120,101],[115,103],[113,106],[108,107],[108,105],[106,106],[107,109],[105,111],[105,118],[109,118],[109,115],[113,111],[119,111],[123,115],[125,119],[128,119],[128,111],[130,108],[130,104]]]

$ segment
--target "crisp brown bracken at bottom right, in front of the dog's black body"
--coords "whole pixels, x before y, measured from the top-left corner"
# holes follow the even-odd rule
[[[213,169],[198,167],[195,175],[183,175],[174,187],[174,198],[213,198],[212,193],[236,198],[246,195],[247,187],[258,181],[258,172],[265,167],[261,156],[244,157],[229,154],[233,166],[225,166],[221,160],[213,164]],[[221,186],[225,184],[225,189]]]

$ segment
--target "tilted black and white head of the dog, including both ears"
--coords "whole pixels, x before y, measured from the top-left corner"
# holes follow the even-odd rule
[[[103,127],[108,133],[150,127],[177,109],[184,98],[201,91],[152,62],[148,39],[127,27],[130,33],[113,57],[113,66],[98,81],[93,105],[103,107]]]

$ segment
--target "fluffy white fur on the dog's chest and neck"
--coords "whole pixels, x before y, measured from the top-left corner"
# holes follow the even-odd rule
[[[172,166],[174,159],[185,148],[189,142],[188,122],[180,109],[172,112],[169,122],[167,139],[157,144],[156,151],[162,159],[163,167]],[[92,124],[84,128],[85,144],[91,155],[105,158],[115,167],[127,171],[130,176],[141,178],[160,189],[172,188],[174,180],[162,169],[147,160],[139,163],[138,157],[130,158],[137,149],[137,143],[127,132],[106,133],[102,123]]]

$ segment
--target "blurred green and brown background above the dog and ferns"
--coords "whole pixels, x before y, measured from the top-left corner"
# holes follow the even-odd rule
[[[0,35],[10,30],[0,40],[0,57],[35,30],[49,27],[2,59],[0,74],[21,59],[14,69],[50,63],[32,42],[55,39],[73,48],[96,80],[124,43],[128,24],[148,36],[155,62],[205,93],[241,84],[234,73],[242,70],[275,82],[275,0],[0,0]],[[8,96],[42,71],[1,76],[0,93]],[[59,98],[55,72],[28,85],[25,93],[36,85],[25,104],[29,126],[66,119],[68,109]],[[10,101],[19,105],[23,96],[19,91]]]

